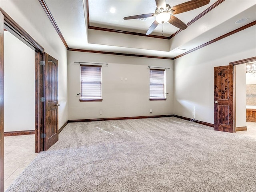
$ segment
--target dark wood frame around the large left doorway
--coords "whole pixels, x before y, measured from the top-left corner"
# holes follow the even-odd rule
[[[43,140],[40,139],[40,132],[43,131],[44,114],[40,105],[42,87],[42,48],[31,36],[29,36],[4,10],[0,8],[0,192],[4,191],[4,29],[16,36],[32,50],[34,50],[34,90],[35,90],[35,151],[43,150]]]

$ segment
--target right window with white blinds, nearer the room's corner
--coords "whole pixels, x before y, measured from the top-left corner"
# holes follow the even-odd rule
[[[150,95],[149,100],[166,100],[165,97],[165,70],[149,70]]]

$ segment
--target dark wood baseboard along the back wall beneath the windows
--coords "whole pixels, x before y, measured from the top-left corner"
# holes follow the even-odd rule
[[[135,116],[135,117],[113,117],[113,118],[99,118],[99,119],[77,119],[68,120],[69,123],[88,122],[88,121],[108,121],[108,120],[126,120],[126,119],[145,119],[145,118],[160,118],[173,117],[174,115],[154,115],[154,116]]]

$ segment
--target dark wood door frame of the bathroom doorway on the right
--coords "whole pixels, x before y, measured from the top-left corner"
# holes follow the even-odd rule
[[[249,62],[254,62],[256,61],[256,57],[251,57],[251,58],[246,58],[246,59],[242,59],[242,60],[238,60],[238,61],[234,61],[234,62],[230,62],[229,64],[233,66],[233,82],[234,82],[234,86],[233,86],[233,95],[234,95],[234,99],[233,99],[233,106],[234,106],[234,132],[236,132],[236,70],[234,68],[235,65],[240,65],[240,64],[244,64],[244,63],[249,63]]]

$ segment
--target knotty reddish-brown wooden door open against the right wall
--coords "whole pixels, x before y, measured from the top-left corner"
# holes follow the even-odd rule
[[[233,66],[214,67],[214,130],[234,132]]]

